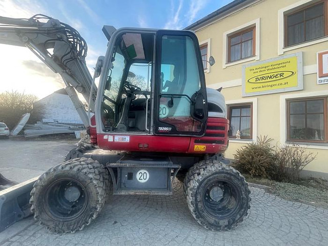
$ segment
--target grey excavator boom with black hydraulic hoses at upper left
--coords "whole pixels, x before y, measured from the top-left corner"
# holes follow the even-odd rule
[[[89,127],[88,115],[75,92],[89,101],[92,76],[85,61],[88,47],[78,31],[42,14],[29,19],[0,16],[0,44],[25,46],[53,72],[59,73],[84,125]],[[93,110],[95,96],[91,98],[89,108]]]

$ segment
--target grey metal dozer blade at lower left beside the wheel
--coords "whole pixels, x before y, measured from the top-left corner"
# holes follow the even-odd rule
[[[37,179],[35,177],[0,191],[0,232],[32,214],[30,192]]]

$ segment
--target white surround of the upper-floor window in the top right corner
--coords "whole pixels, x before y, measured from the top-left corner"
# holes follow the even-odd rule
[[[301,1],[296,2],[295,4],[289,5],[285,8],[278,10],[278,55],[283,55],[283,53],[286,51],[295,50],[295,49],[299,49],[302,47],[315,45],[315,44],[319,44],[319,43],[328,41],[328,37],[325,36],[325,37],[318,38],[318,39],[315,39],[315,40],[312,40],[309,42],[305,42],[305,43],[302,43],[299,45],[293,45],[293,46],[284,48],[284,40],[285,40],[284,15],[288,14],[289,12],[293,12],[293,11],[297,10],[298,8],[301,9],[303,7],[306,7],[307,5],[311,5],[316,2],[318,2],[318,0],[301,0]]]

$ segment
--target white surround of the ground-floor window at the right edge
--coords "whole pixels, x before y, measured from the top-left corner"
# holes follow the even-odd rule
[[[313,91],[313,92],[305,92],[305,93],[297,93],[297,94],[288,94],[280,96],[280,144],[285,145],[287,142],[287,101],[289,99],[307,99],[309,97],[320,97],[327,96],[328,91]],[[288,141],[290,142],[290,141]],[[297,141],[295,141],[297,142]],[[320,149],[320,150],[328,150],[328,145],[326,143],[318,143],[314,144],[313,142],[309,142],[309,144],[302,144],[297,142],[297,144],[304,148],[309,149]]]

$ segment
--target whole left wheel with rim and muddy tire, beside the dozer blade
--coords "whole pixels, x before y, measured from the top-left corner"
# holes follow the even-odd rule
[[[82,230],[104,207],[108,189],[104,172],[104,166],[90,158],[75,158],[49,169],[31,191],[34,218],[56,233]]]

